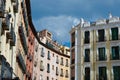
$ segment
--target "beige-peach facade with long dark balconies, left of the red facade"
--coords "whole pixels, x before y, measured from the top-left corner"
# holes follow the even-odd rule
[[[17,63],[16,63],[16,75],[20,80],[25,79],[26,73],[26,58],[27,58],[27,36],[28,36],[28,20],[27,20],[26,1],[19,0],[19,12],[17,15],[18,20],[18,38],[17,38]]]

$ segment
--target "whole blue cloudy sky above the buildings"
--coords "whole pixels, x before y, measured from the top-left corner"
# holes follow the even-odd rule
[[[37,31],[49,30],[53,40],[70,46],[70,30],[80,22],[120,17],[120,0],[31,0],[33,24]]]

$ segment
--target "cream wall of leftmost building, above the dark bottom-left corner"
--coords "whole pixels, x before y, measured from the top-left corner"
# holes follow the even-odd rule
[[[3,16],[0,17],[0,56],[6,59],[7,64],[12,67],[11,69],[15,69],[14,61],[16,61],[16,37],[18,29],[16,15],[18,9],[16,8],[15,11],[15,5],[13,5],[11,0],[0,0],[0,2],[4,3],[1,7],[4,7],[3,12],[5,11]],[[14,70],[11,73],[13,74],[13,72]]]

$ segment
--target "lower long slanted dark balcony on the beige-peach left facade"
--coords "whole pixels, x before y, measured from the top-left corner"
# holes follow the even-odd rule
[[[22,72],[25,73],[26,72],[26,65],[25,65],[25,62],[24,62],[24,59],[21,55],[21,52],[20,50],[18,51],[18,55],[17,55],[17,61],[22,69]]]

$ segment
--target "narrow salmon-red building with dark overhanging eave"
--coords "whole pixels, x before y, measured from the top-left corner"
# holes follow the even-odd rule
[[[25,80],[32,80],[32,74],[33,74],[33,60],[34,60],[34,43],[36,38],[36,30],[32,23],[32,17],[31,17],[31,6],[30,6],[30,0],[26,0],[26,7],[28,16],[28,39],[27,39],[27,48],[28,53],[26,57],[26,76]]]

